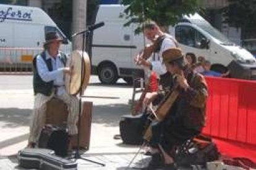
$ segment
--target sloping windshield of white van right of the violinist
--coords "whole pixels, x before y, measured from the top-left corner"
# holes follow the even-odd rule
[[[192,23],[197,25],[202,30],[206,31],[207,33],[211,34],[214,38],[221,41],[221,44],[226,46],[233,46],[234,42],[231,42],[226,36],[224,36],[220,31],[216,30],[213,26],[211,26],[208,22],[205,20],[192,20]]]

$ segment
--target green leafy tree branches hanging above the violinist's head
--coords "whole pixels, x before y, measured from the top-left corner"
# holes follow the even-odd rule
[[[137,23],[140,29],[142,23],[154,20],[160,26],[175,25],[184,14],[194,14],[200,11],[202,0],[122,0],[127,5],[126,17],[130,23]]]

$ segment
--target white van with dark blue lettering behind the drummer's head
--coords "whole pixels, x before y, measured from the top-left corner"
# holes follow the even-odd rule
[[[65,39],[61,49],[70,54],[71,42],[42,9],[0,4],[0,67],[31,68],[48,31],[57,31]]]

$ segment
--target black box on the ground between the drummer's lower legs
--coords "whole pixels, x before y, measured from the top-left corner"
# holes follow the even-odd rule
[[[58,156],[67,156],[69,147],[69,134],[67,127],[53,126],[47,124],[41,129],[38,148],[49,148],[54,150]]]

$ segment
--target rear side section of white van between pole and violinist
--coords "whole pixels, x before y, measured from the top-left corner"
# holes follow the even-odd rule
[[[134,55],[143,49],[143,35],[135,35],[135,25],[124,27],[127,20],[119,17],[124,11],[121,5],[100,5],[95,23],[105,26],[93,31],[92,73],[106,84],[116,83],[124,78],[130,83],[134,72],[141,75],[143,70],[134,63]]]

